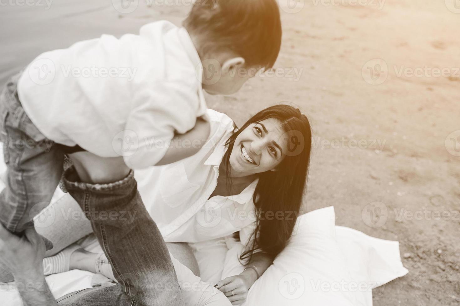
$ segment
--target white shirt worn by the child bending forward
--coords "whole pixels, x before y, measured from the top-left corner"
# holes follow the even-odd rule
[[[159,21],[139,35],[102,35],[38,56],[18,81],[26,114],[46,138],[128,167],[155,165],[174,132],[205,115],[200,57],[185,28]]]

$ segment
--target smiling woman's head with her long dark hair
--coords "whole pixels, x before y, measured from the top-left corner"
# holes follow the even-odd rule
[[[254,239],[240,259],[250,262],[256,250],[274,258],[286,246],[302,205],[311,152],[310,123],[299,109],[271,106],[250,118],[227,145],[227,177],[256,174],[259,178],[253,195]],[[293,217],[266,217],[276,213]]]

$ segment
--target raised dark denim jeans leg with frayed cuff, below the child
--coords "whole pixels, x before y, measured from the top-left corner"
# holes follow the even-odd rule
[[[64,184],[91,221],[120,284],[123,301],[108,305],[183,306],[171,257],[144,207],[134,172],[114,183],[87,184],[72,166],[64,173]]]

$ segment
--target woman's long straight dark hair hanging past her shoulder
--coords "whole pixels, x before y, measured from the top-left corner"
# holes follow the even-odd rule
[[[230,136],[226,145],[224,161],[227,177],[230,178],[230,154],[236,137],[252,123],[274,118],[290,135],[288,151],[276,171],[259,173],[259,182],[253,195],[256,207],[256,229],[253,243],[248,245],[240,261],[248,264],[255,251],[262,251],[275,258],[287,245],[302,206],[311,152],[311,128],[305,115],[289,105],[270,106],[250,118],[238,131]],[[300,146],[300,147],[299,147]],[[288,153],[289,153],[288,152]]]

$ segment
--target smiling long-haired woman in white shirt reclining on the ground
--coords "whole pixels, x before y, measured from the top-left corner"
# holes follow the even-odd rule
[[[288,105],[259,111],[240,129],[222,113],[208,110],[207,115],[211,136],[196,155],[138,171],[135,178],[171,254],[196,275],[200,271],[190,245],[239,234],[245,246],[239,260],[246,268],[216,284],[239,305],[292,234],[305,189],[311,128],[308,119]],[[79,209],[72,201],[63,196],[35,221],[38,232],[55,245],[48,255],[69,245],[69,238],[75,241],[91,233],[84,218],[69,222]],[[61,215],[65,223],[58,226]],[[52,226],[40,226],[49,225],[47,216],[53,216]],[[129,222],[130,216],[124,217]],[[64,235],[68,239],[58,241],[63,230],[69,232]],[[103,253],[79,245],[45,258],[44,267],[47,273],[78,268],[114,279]]]

